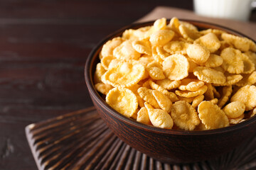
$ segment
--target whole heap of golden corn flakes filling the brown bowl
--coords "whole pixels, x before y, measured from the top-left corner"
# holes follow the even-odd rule
[[[223,30],[160,18],[102,46],[95,88],[146,125],[211,130],[256,114],[256,45]]]

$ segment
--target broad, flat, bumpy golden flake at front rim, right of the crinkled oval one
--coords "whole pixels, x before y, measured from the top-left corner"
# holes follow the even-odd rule
[[[229,125],[228,117],[215,104],[202,101],[198,106],[198,116],[208,130],[224,128]]]

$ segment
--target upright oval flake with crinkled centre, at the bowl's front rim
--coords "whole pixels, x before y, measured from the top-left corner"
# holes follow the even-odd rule
[[[171,118],[174,124],[182,130],[194,130],[200,123],[195,108],[186,101],[176,101],[171,106]]]

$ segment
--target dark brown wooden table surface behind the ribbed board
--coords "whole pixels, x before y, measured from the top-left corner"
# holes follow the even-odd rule
[[[155,6],[193,9],[191,0],[0,2],[1,170],[37,169],[26,125],[92,106],[83,77],[90,50]]]

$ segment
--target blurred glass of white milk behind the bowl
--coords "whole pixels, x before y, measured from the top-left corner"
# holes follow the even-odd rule
[[[194,11],[201,16],[247,21],[255,0],[193,0]]]

